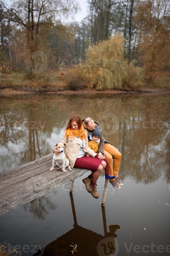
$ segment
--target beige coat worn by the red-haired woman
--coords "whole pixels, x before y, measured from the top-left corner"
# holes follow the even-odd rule
[[[89,148],[87,131],[85,130],[85,132],[86,132],[86,141],[85,139],[83,139],[83,150],[84,152],[86,152],[87,156],[91,155],[95,157],[95,155],[97,154],[91,148]],[[65,132],[61,138],[61,142],[67,143],[67,147],[64,148],[64,153],[66,154],[66,156],[70,161],[70,166],[73,168],[75,161],[77,159],[77,155],[80,150],[80,142],[76,136],[74,139],[70,139],[70,138],[67,139]]]

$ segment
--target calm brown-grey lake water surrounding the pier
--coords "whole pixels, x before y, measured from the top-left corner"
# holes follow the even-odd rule
[[[0,216],[0,243],[23,255],[170,255],[169,94],[1,97],[0,172],[52,153],[71,115],[99,121],[122,154],[123,186],[101,207],[82,179]],[[90,172],[89,172],[90,173]],[[40,249],[40,250],[38,250]],[[156,255],[157,255],[156,254]],[[1,253],[0,253],[1,255]]]

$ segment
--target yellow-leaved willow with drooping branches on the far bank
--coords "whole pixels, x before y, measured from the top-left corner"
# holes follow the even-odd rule
[[[97,90],[122,89],[139,84],[142,68],[124,59],[124,37],[115,34],[109,40],[91,45],[86,54],[85,64],[80,63],[82,77],[87,85]],[[131,80],[129,80],[129,78]]]

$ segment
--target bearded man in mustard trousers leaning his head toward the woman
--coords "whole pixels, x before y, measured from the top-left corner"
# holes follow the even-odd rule
[[[100,124],[93,120],[91,117],[87,117],[82,119],[82,123],[84,125],[84,128],[88,132],[88,136],[92,133],[92,131],[95,129],[95,127],[101,127]],[[106,158],[109,160],[110,165],[110,175],[115,175],[115,179],[110,179],[109,182],[112,184],[112,186],[115,189],[120,189],[120,186],[123,186],[123,183],[121,182],[121,179],[119,178],[119,166],[121,161],[121,153],[117,148],[115,148],[110,142],[106,141],[103,138],[103,133],[100,137],[100,144],[99,144],[99,153],[98,155],[100,157],[103,156],[103,150],[106,153]],[[112,156],[114,157],[114,162],[112,163]]]

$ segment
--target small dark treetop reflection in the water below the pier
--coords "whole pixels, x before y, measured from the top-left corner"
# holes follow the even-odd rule
[[[44,220],[51,210],[56,210],[56,203],[52,203],[48,196],[41,196],[23,206],[25,212],[30,212],[35,218]]]

